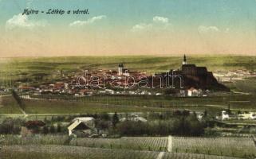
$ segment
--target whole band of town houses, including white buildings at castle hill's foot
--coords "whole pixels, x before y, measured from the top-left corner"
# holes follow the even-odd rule
[[[62,74],[62,73],[61,73]],[[31,95],[42,94],[65,94],[74,96],[89,96],[89,95],[163,95],[163,92],[157,92],[154,89],[111,89],[108,86],[110,83],[116,83],[120,87],[126,87],[128,84],[127,77],[132,76],[134,81],[140,81],[141,76],[146,76],[144,72],[131,72],[127,68],[124,68],[124,64],[119,64],[117,72],[112,70],[98,70],[98,71],[86,71],[85,76],[73,75],[63,76],[61,81],[56,83],[44,83],[38,87],[24,86],[18,87],[20,92],[29,92]],[[80,78],[81,77],[81,78]],[[97,80],[93,80],[92,77],[97,77]],[[134,82],[132,81],[132,82]],[[80,87],[77,85],[83,85]],[[89,83],[97,83],[100,89],[93,89]],[[136,84],[136,83],[133,83]],[[195,87],[189,89],[179,89],[172,95],[180,97],[198,97],[207,96],[209,91],[202,91]]]

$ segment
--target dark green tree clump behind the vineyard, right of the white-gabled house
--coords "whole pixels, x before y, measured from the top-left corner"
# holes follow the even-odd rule
[[[143,135],[191,135],[200,136],[203,134],[203,122],[199,122],[195,114],[181,114],[169,120],[152,122],[120,122],[116,126],[117,133],[123,136]]]

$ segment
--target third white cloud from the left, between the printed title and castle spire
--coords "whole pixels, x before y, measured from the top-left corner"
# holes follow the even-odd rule
[[[167,26],[171,25],[167,17],[155,16],[152,18],[151,23],[140,23],[132,26],[132,32],[146,31],[149,29],[167,29]]]

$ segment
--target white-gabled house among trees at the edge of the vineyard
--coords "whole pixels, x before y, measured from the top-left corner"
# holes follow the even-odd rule
[[[90,136],[95,134],[95,119],[93,117],[74,118],[68,130],[69,136]]]

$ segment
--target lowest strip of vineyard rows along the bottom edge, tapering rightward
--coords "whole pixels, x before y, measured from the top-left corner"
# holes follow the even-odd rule
[[[37,154],[37,159],[50,158],[93,158],[93,159],[156,159],[159,152],[137,151],[124,149],[86,148],[71,145],[9,145],[1,150],[2,159],[32,159],[31,155]],[[48,154],[48,155],[47,155]],[[46,156],[46,157],[45,157]],[[163,153],[163,159],[232,159],[231,157],[218,157],[193,153]]]

